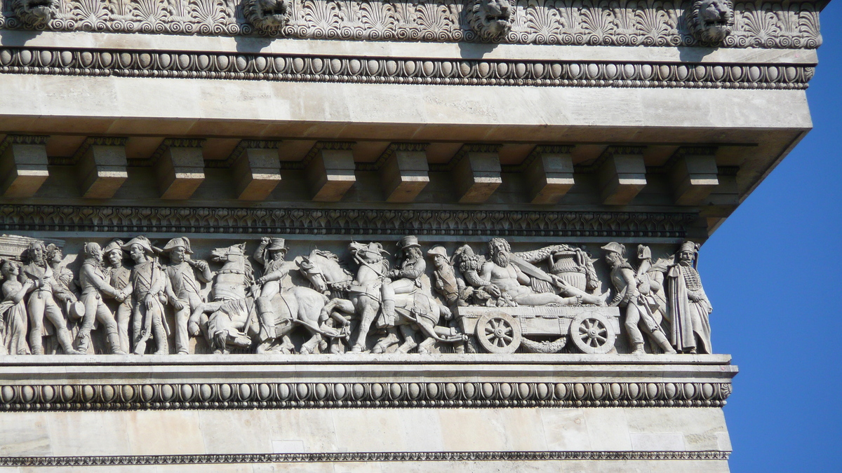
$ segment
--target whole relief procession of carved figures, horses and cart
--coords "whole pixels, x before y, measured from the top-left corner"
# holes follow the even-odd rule
[[[3,238],[17,248],[0,250],[3,354],[711,353],[693,242],[657,260],[639,245],[637,266],[609,242],[603,266],[499,237],[485,254],[406,236],[289,259],[263,237],[207,260],[187,237],[85,242],[75,260],[61,241]]]

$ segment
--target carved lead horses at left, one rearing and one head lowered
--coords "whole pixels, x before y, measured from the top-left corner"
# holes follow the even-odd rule
[[[210,252],[213,261],[222,263],[214,278],[213,302],[206,303],[203,308],[203,311],[210,312],[206,333],[215,353],[227,353],[228,345],[249,348],[260,333],[255,304],[260,297],[260,288],[255,284],[245,247],[245,243],[240,243]],[[270,300],[274,310],[274,333],[268,333],[268,338],[258,343],[257,352],[291,353],[293,345],[289,333],[299,326],[312,334],[301,346],[301,353],[313,353],[322,344],[322,337],[348,337],[347,330],[320,324],[324,322],[320,316],[327,302],[326,295],[306,287],[281,290]]]

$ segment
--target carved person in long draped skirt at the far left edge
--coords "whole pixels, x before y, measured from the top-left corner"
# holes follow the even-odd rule
[[[3,302],[0,302],[0,321],[3,332],[0,340],[0,354],[29,354],[26,343],[26,303],[24,295],[32,289],[34,281],[26,279],[20,284],[20,267],[8,259],[0,260],[0,274],[3,274]]]

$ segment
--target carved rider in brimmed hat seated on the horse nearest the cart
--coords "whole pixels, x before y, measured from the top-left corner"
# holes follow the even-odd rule
[[[395,295],[409,294],[416,288],[421,288],[421,279],[427,269],[424,262],[424,255],[421,253],[421,245],[418,244],[418,237],[412,235],[401,238],[401,253],[403,261],[399,269],[392,269],[386,274],[381,285],[382,318],[380,327],[391,327],[395,325]],[[392,279],[390,281],[390,278]]]

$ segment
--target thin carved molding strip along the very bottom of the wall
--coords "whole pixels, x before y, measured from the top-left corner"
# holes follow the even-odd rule
[[[348,461],[727,460],[730,451],[330,452],[297,454],[170,454],[4,456],[0,466],[200,465]]]

